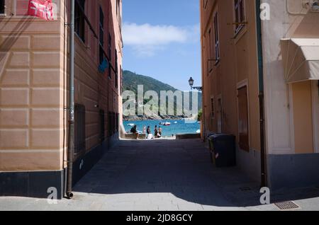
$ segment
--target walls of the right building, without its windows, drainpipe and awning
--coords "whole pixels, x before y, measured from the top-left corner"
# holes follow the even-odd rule
[[[246,144],[238,144],[237,166],[255,180],[260,180],[262,156],[259,151],[257,1],[243,2],[245,25],[238,35],[234,35],[235,1],[201,0],[202,129],[203,135],[208,132],[220,132],[218,98],[221,98],[221,132],[235,134],[238,142],[238,121],[242,112],[240,113],[237,99],[238,96],[242,98],[244,95],[243,91],[237,92],[237,89],[247,86],[249,151],[241,150]],[[319,13],[310,12],[305,2],[260,2],[269,9],[267,16],[270,16],[269,20],[262,20],[264,71],[260,75],[264,77],[267,180],[269,187],[274,189],[313,185],[319,182],[318,81],[287,83],[284,79],[280,45],[282,38],[319,38]],[[220,36],[218,64],[208,62],[208,59],[216,58],[213,24],[216,12],[219,15]],[[241,100],[240,104],[245,105],[244,102]]]

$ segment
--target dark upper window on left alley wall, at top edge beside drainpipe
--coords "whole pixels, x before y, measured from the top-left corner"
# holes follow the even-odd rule
[[[85,42],[84,38],[84,24],[85,24],[85,0],[75,1],[74,8],[74,31],[79,38]]]

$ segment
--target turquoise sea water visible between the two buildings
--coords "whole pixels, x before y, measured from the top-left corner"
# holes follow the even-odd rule
[[[159,122],[170,122],[170,126],[163,126],[159,125]],[[175,123],[177,122],[177,123]],[[129,124],[134,124],[138,126],[138,131],[143,130],[144,126],[150,126],[152,134],[154,134],[155,125],[158,127],[162,127],[163,130],[163,137],[172,137],[172,135],[176,134],[196,134],[198,129],[200,129],[201,125],[194,121],[187,123],[184,120],[146,120],[146,121],[124,121],[123,125],[125,127],[126,131],[130,131],[132,127],[129,126]]]

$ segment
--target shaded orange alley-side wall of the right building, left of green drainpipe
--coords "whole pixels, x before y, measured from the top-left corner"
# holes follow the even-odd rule
[[[217,132],[218,120],[212,116],[211,98],[217,111],[218,98],[222,100],[222,132],[238,135],[237,88],[247,86],[249,102],[250,148],[259,150],[259,108],[257,74],[257,37],[255,5],[245,4],[247,25],[235,36],[233,1],[201,1],[203,47],[203,104],[206,133]],[[213,16],[218,12],[220,35],[220,62],[215,58]],[[211,37],[209,35],[211,30]],[[211,40],[210,40],[211,38]],[[210,42],[213,45],[210,45]],[[211,53],[210,53],[211,51]]]

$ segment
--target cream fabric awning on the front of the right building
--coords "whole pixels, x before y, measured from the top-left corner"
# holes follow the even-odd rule
[[[281,39],[287,83],[319,80],[319,38]]]

